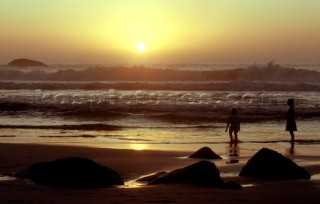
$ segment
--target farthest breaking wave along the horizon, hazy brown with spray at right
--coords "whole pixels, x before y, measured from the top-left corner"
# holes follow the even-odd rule
[[[1,69],[0,80],[140,82],[241,80],[281,83],[318,83],[320,81],[320,72],[315,70],[296,69],[292,67],[281,67],[273,62],[268,63],[266,66],[253,65],[246,68],[224,70],[190,70],[171,69],[165,67],[152,68],[144,66],[98,66],[86,69],[60,69],[53,72],[41,69],[31,69],[29,71]]]

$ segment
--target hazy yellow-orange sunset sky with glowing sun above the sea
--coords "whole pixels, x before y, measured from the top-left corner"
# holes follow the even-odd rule
[[[319,0],[0,0],[1,64],[320,62],[319,53]]]

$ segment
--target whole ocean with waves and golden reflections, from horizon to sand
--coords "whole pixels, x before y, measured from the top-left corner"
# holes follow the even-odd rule
[[[230,153],[292,149],[287,99],[296,104],[296,154],[320,138],[320,64],[50,65],[0,67],[0,142]],[[119,71],[120,70],[120,71]],[[262,73],[262,74],[260,74]],[[229,152],[229,153],[228,153]]]

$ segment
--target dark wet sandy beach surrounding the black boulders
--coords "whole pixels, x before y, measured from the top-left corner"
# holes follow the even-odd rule
[[[221,151],[216,152],[221,154]],[[171,171],[199,161],[187,158],[192,152],[0,143],[1,174],[19,171],[37,162],[85,157],[114,169],[125,181],[124,186],[116,188],[77,189],[41,186],[2,177],[0,203],[318,203],[320,198],[320,156],[317,152],[285,155],[305,168],[311,180],[268,181],[239,177],[238,173],[252,156],[248,153],[242,154],[235,163],[230,163],[230,158],[211,160],[224,181],[238,182],[242,189],[186,184],[147,186],[135,182],[145,175]]]

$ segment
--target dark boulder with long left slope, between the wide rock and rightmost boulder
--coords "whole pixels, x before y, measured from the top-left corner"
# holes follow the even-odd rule
[[[164,176],[154,179],[148,185],[179,183],[203,187],[241,188],[239,184],[234,182],[228,182],[225,185],[220,177],[218,168],[209,161],[199,161],[187,167],[173,170]]]

